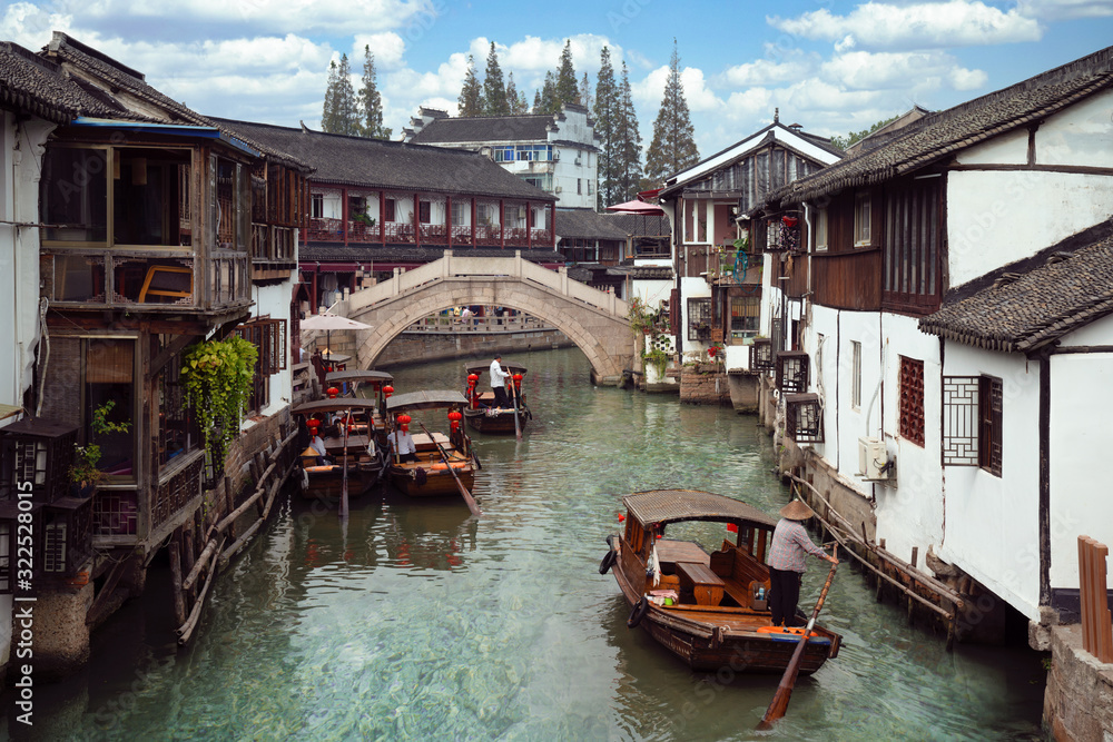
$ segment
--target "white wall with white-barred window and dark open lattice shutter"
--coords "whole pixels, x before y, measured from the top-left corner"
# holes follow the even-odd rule
[[[958,343],[947,343],[944,355],[946,376],[1002,380],[1002,475],[977,466],[945,467],[946,536],[937,553],[1038,621],[1038,364]]]

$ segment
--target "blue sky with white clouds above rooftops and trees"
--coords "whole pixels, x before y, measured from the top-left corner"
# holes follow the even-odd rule
[[[627,66],[643,147],[673,42],[700,157],[768,126],[846,136],[913,106],[940,110],[1113,44],[1113,0],[57,0],[0,6],[0,40],[39,50],[65,31],[208,116],[317,129],[328,65],[358,89],[375,55],[384,125],[456,111],[493,41],[532,105],[571,41],[594,88],[600,51]]]

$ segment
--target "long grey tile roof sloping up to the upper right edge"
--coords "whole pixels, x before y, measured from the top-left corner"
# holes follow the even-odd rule
[[[769,197],[781,207],[883,182],[954,152],[1023,128],[1113,87],[1113,47],[1003,90],[939,111],[899,130],[888,144],[829,165]]]

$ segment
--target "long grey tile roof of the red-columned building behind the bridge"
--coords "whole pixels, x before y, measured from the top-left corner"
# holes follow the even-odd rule
[[[318,184],[395,188],[555,202],[482,155],[442,147],[348,137],[307,128],[213,119],[245,139],[289,152],[315,168]]]

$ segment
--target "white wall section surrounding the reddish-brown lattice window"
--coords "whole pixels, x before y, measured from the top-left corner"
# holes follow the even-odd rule
[[[880,392],[883,427],[890,456],[896,454],[895,486],[877,483],[877,535],[889,552],[908,560],[919,547],[923,564],[927,546],[943,541],[943,467],[939,459],[942,387],[939,340],[924,335],[915,317],[883,314],[880,321]],[[924,446],[899,435],[900,356],[924,362]],[[873,394],[870,392],[870,394]],[[855,452],[857,456],[857,451]]]

